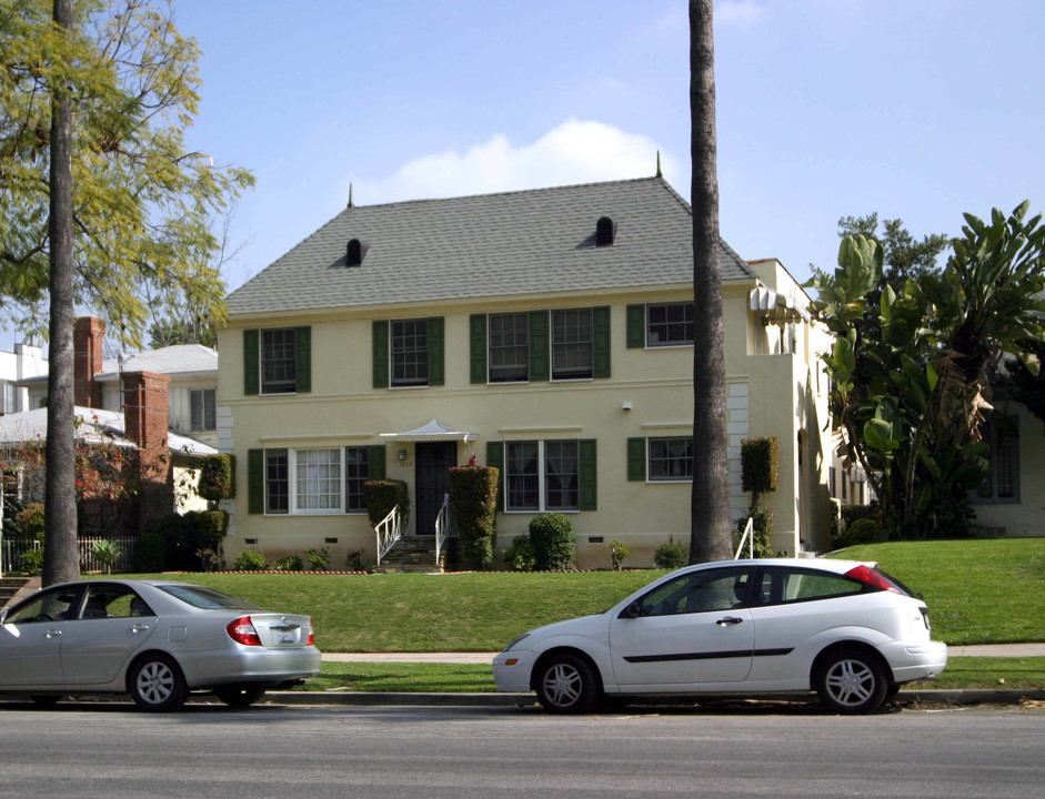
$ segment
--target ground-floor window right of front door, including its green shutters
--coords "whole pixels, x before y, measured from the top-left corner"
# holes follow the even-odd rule
[[[501,467],[508,510],[594,510],[595,441],[491,442],[488,463]]]

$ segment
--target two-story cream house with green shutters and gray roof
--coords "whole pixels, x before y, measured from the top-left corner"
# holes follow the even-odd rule
[[[228,297],[219,448],[239,464],[225,553],[375,558],[368,478],[433,534],[448,468],[501,469],[498,550],[571,514],[579,567],[689,540],[693,257],[661,178],[349,206]],[[776,436],[774,547],[827,543],[826,342],[776,261],[720,247],[731,499],[741,441]]]

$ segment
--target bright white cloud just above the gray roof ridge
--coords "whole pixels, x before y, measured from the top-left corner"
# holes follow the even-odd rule
[[[656,151],[649,136],[571,118],[532,144],[499,133],[464,153],[422,155],[384,180],[356,181],[354,199],[373,205],[650,176]],[[676,172],[674,159],[661,159],[665,175]]]

